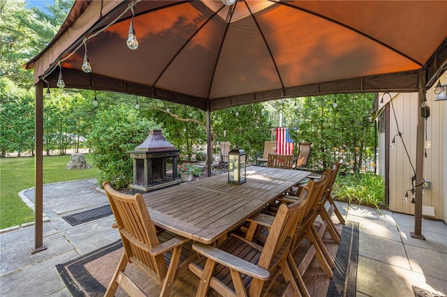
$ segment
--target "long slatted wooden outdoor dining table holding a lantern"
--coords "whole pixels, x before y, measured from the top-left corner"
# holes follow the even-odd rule
[[[247,167],[247,183],[229,184],[218,174],[143,195],[154,224],[193,241],[210,244],[310,172],[274,167]]]

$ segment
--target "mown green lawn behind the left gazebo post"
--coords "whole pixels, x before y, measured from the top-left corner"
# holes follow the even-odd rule
[[[91,155],[85,155],[87,164],[93,163]],[[96,178],[96,168],[66,170],[70,155],[43,157],[43,183],[75,181],[84,178]],[[34,221],[31,210],[18,193],[34,187],[34,158],[0,158],[0,229]]]

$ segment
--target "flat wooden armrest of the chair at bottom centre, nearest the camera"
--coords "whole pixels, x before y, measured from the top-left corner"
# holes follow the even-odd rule
[[[222,264],[223,266],[239,271],[240,273],[244,273],[245,275],[256,277],[259,280],[268,280],[270,278],[270,273],[268,270],[233,256],[233,254],[228,254],[228,252],[214,248],[211,245],[193,243],[193,250],[199,254],[203,254],[205,257],[212,259],[219,264]]]

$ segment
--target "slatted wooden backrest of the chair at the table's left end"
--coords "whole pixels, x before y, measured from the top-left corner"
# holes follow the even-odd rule
[[[129,261],[139,262],[138,266],[149,268],[152,273],[148,274],[158,282],[161,282],[167,273],[163,254],[153,257],[139,246],[154,248],[159,245],[156,228],[147,212],[142,195],[123,194],[113,190],[108,182],[103,183],[103,187],[112,207],[119,235],[122,238],[124,250]]]

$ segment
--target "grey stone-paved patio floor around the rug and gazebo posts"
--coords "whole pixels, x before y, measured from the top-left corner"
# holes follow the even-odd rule
[[[119,239],[117,230],[111,228],[112,215],[75,227],[61,218],[62,214],[108,204],[95,185],[95,180],[87,180],[44,186],[43,230],[47,250],[43,252],[29,252],[34,227],[1,231],[1,296],[71,296],[55,266]],[[61,189],[66,195],[55,199],[52,192]],[[34,189],[20,195],[25,201],[32,200]],[[438,296],[447,294],[444,222],[423,218],[426,241],[422,241],[409,235],[414,227],[411,215],[390,211],[379,215],[374,208],[338,202],[337,206],[346,220],[360,224],[357,296],[413,296],[412,286]]]

